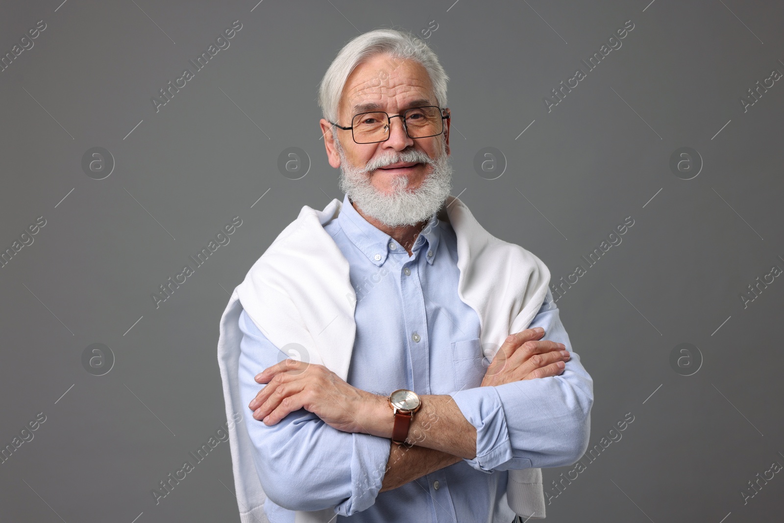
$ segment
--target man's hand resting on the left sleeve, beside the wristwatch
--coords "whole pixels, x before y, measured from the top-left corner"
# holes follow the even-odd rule
[[[292,359],[264,369],[256,376],[256,383],[267,383],[267,387],[248,406],[256,411],[253,417],[263,419],[267,426],[278,423],[289,412],[305,409],[337,430],[368,434],[363,424],[371,423],[372,413],[387,401],[352,387],[324,365]]]

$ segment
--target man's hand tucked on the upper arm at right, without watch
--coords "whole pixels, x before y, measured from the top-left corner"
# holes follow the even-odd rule
[[[544,329],[525,329],[506,338],[495,353],[481,387],[494,387],[520,380],[558,376],[570,358],[563,343],[540,340]]]

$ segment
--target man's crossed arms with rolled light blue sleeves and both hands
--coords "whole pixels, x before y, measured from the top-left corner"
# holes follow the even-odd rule
[[[571,344],[554,305],[545,303],[536,325],[548,340],[530,329],[510,336],[481,387],[422,396],[406,448],[389,439],[386,397],[321,365],[274,365],[278,349],[243,312],[241,395],[256,411],[245,423],[267,496],[289,510],[351,515],[379,492],[463,459],[486,473],[574,463],[588,443],[593,382],[577,354],[559,352]]]

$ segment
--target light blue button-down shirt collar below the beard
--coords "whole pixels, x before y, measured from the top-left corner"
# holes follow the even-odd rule
[[[423,230],[416,236],[416,241],[412,248],[412,252],[416,256],[416,252],[419,249],[422,249],[423,246],[426,246],[425,256],[427,263],[430,263],[430,265],[432,265],[435,260],[438,241],[441,237],[441,227],[438,227],[440,222],[436,215],[437,213],[434,212],[433,216],[430,216],[430,220],[428,220],[425,227],[423,227]],[[346,233],[350,241],[354,243],[365,256],[368,256],[368,260],[377,267],[381,267],[383,263],[387,261],[387,256],[390,252],[403,252],[405,253],[406,259],[408,259],[408,253],[405,252],[405,249],[403,249],[403,246],[400,245],[400,243],[394,240],[389,234],[369,223],[368,220],[365,220],[364,216],[357,212],[357,209],[354,209],[354,205],[351,205],[348,194],[343,197],[343,206],[340,209],[338,221],[340,227]],[[390,251],[390,244],[395,245],[395,249],[391,249]],[[424,251],[425,249],[422,250]],[[427,256],[428,252],[430,252],[430,256]],[[413,257],[414,256],[412,256],[412,258]]]

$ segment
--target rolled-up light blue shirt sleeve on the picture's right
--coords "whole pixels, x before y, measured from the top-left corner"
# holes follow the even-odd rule
[[[465,459],[476,470],[563,467],[588,447],[593,380],[572,350],[550,290],[528,326],[534,327],[571,354],[561,375],[450,393],[477,429],[477,456]]]

